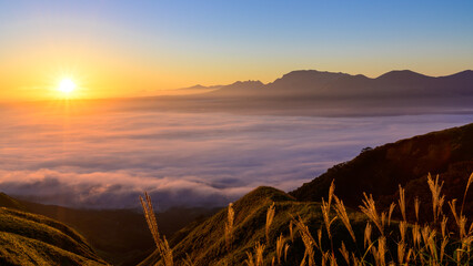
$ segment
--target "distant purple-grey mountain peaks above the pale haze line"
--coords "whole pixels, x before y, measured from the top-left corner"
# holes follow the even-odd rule
[[[427,76],[410,70],[397,70],[375,79],[346,73],[299,70],[272,83],[235,82],[209,92],[205,96],[254,98],[413,98],[473,95],[473,71],[446,76]]]

